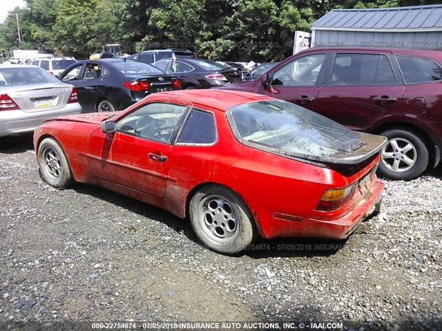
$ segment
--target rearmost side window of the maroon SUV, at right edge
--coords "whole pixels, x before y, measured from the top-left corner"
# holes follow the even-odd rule
[[[396,55],[405,84],[428,83],[442,79],[442,68],[436,61],[423,57]]]

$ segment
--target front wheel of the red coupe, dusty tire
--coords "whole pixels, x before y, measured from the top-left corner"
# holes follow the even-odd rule
[[[66,155],[55,139],[43,139],[38,155],[39,171],[46,183],[55,188],[68,188],[73,183]]]

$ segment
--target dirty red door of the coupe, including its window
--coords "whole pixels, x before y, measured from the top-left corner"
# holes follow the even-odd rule
[[[113,134],[95,131],[88,163],[97,179],[163,198],[172,159],[173,137],[185,104],[147,103],[115,123]]]

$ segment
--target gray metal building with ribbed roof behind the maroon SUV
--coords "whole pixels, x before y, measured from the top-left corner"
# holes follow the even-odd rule
[[[314,47],[442,48],[442,5],[334,9],[311,30]]]

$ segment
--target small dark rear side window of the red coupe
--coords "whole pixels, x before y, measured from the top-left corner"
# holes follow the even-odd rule
[[[178,144],[211,144],[216,141],[215,119],[211,112],[191,111],[182,128]]]

